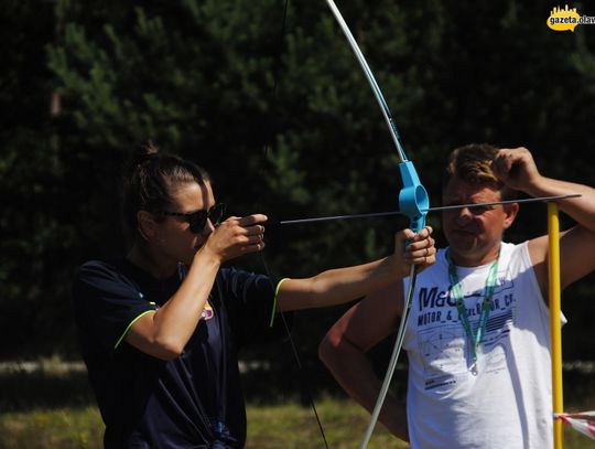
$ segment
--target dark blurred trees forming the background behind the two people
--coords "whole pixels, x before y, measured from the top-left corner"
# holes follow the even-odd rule
[[[545,175],[595,185],[595,25],[552,31],[556,6],[338,2],[432,205],[446,154],[469,142],[524,146]],[[570,7],[595,15],[588,2]],[[322,0],[3,0],[0,14],[0,411],[93,402],[71,282],[85,260],[126,254],[120,174],[140,141],[204,167],[232,215],[274,222],[397,209],[392,140]],[[444,244],[440,216],[429,223]],[[234,265],[310,276],[388,254],[405,225],[271,225],[263,259]],[[522,205],[507,239],[545,225],[543,204]],[[594,275],[563,295],[570,399],[595,397],[582,389],[594,384]],[[248,398],[340,395],[316,346],[347,307],[296,316],[302,372],[286,342],[244,352]],[[376,350],[379,371],[390,344]],[[50,378],[50,365],[69,377]],[[403,379],[401,371],[397,389]]]

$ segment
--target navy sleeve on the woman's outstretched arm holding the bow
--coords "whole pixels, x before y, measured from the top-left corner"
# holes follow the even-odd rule
[[[221,275],[224,286],[217,287],[239,346],[285,335],[284,325],[291,325],[293,312],[284,313],[285,322],[277,319],[274,325],[270,325],[275,285],[269,277],[232,268],[221,270]]]

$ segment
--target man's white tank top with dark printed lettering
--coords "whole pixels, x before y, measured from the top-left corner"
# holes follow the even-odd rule
[[[490,265],[456,267],[474,331]],[[450,288],[441,249],[436,263],[418,276],[403,343],[411,447],[553,447],[549,309],[527,242],[501,246],[476,374]]]

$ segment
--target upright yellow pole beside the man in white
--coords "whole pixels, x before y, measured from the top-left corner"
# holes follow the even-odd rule
[[[549,296],[550,296],[550,333],[552,345],[552,393],[553,413],[564,411],[562,396],[562,323],[561,316],[561,288],[560,288],[560,220],[558,204],[548,203],[548,235],[550,245],[549,268]],[[564,447],[564,429],[561,419],[554,419],[554,448]]]

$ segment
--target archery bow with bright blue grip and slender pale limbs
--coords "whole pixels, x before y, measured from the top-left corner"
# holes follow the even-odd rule
[[[335,15],[335,19],[337,20],[340,29],[343,30],[343,33],[347,38],[347,41],[349,42],[349,45],[351,46],[351,50],[354,51],[354,54],[356,55],[356,58],[359,62],[359,65],[361,66],[361,70],[364,71],[364,74],[366,75],[366,78],[368,79],[370,84],[370,87],[378,101],[378,105],[380,106],[380,109],[382,111],[387,126],[389,128],[390,135],[392,137],[392,141],[394,142],[397,152],[399,154],[399,159],[400,159],[399,171],[400,171],[401,180],[403,183],[403,186],[399,193],[399,211],[409,216],[409,220],[410,220],[409,227],[413,232],[418,233],[421,229],[423,229],[423,227],[425,226],[425,215],[428,213],[428,209],[430,207],[430,199],[428,196],[428,192],[421,184],[413,163],[409,161],[405,157],[403,147],[401,145],[401,139],[399,137],[399,132],[397,131],[397,126],[394,125],[394,120],[392,119],[392,115],[387,105],[387,101],[385,100],[385,97],[382,96],[380,87],[378,86],[378,83],[376,82],[376,78],[374,77],[370,71],[370,67],[368,66],[368,63],[366,62],[364,54],[359,50],[359,46],[354,35],[351,34],[349,26],[347,26],[347,23],[343,19],[343,15],[340,14],[340,11],[338,10],[335,2],[333,0],[326,0],[326,2],[328,7],[331,8],[331,11],[333,11],[333,14]],[[378,420],[378,416],[380,415],[380,409],[382,408],[382,404],[385,403],[385,398],[387,396],[388,388],[392,379],[392,375],[394,374],[397,360],[399,359],[399,353],[401,352],[401,348],[403,344],[404,333],[407,329],[407,321],[409,318],[409,310],[411,307],[411,299],[412,299],[413,290],[415,287],[415,277],[416,277],[415,267],[411,266],[411,271],[409,276],[409,287],[405,295],[405,300],[403,304],[403,313],[401,316],[399,331],[397,333],[397,341],[392,350],[392,355],[391,355],[391,360],[387,370],[387,374],[385,376],[385,381],[382,382],[382,387],[380,388],[380,394],[378,396],[378,399],[376,400],[376,405],[374,407],[370,421],[366,429],[364,439],[361,440],[361,445],[360,445],[361,449],[365,449],[368,446],[371,434],[374,431],[374,427],[376,425],[376,421]]]

